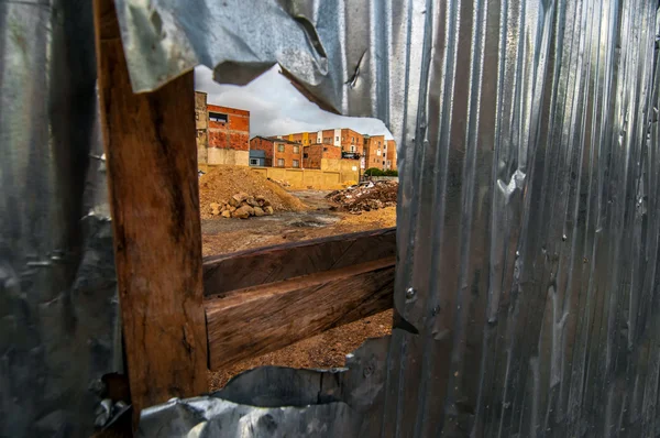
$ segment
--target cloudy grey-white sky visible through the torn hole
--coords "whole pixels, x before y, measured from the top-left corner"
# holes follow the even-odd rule
[[[195,89],[208,94],[208,102],[250,111],[250,136],[278,135],[321,129],[351,128],[362,134],[392,139],[377,119],[337,116],[307,100],[274,66],[244,87],[219,85],[211,69],[195,69]]]

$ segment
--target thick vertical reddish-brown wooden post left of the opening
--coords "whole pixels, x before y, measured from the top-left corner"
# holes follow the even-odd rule
[[[194,78],[133,94],[112,0],[95,0],[95,24],[123,336],[139,414],[207,391]]]

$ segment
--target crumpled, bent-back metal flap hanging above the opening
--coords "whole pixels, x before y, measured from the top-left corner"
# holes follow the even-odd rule
[[[398,2],[394,12],[389,1],[363,0],[116,4],[135,91],[153,90],[199,64],[215,68],[219,83],[244,85],[278,63],[323,108],[387,112],[386,43],[396,29],[391,17],[406,15]],[[404,62],[396,69],[405,72],[404,57],[392,61]],[[397,95],[403,103],[403,92]]]

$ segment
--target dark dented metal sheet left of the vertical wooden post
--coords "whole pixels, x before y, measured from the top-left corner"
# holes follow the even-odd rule
[[[121,371],[95,84],[91,2],[0,2],[2,437],[88,437]]]

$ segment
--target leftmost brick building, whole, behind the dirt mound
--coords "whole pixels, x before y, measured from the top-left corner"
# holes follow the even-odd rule
[[[195,91],[195,117],[199,163],[249,164],[250,111],[208,103],[206,92]]]

